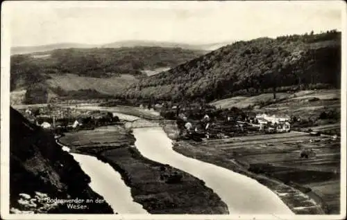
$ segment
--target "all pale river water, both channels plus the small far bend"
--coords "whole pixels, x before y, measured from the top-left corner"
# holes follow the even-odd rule
[[[105,110],[110,110],[105,108]],[[115,113],[119,118],[135,120],[135,116]],[[168,164],[196,176],[216,192],[228,205],[230,214],[294,214],[269,188],[252,178],[230,169],[198,161],[178,154],[161,127],[133,129],[135,146],[152,161]],[[90,186],[119,213],[146,213],[135,203],[118,172],[92,156],[72,154],[82,169],[92,178]]]

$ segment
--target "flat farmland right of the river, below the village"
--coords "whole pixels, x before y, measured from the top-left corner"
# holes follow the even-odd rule
[[[201,143],[180,141],[174,149],[255,178],[297,214],[339,213],[340,140],[296,131],[241,136]],[[308,158],[301,157],[301,152]],[[310,196],[310,197],[309,197]],[[312,200],[313,199],[313,200]]]

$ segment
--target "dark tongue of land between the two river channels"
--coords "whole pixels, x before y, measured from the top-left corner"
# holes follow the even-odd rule
[[[133,134],[124,127],[78,131],[59,141],[71,152],[96,156],[109,163],[130,187],[133,200],[151,214],[229,213],[227,205],[203,181],[142,156],[133,147]]]

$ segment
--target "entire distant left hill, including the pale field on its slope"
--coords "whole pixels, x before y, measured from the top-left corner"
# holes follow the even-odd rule
[[[135,46],[67,48],[12,55],[10,89],[33,93],[24,96],[24,100],[25,97],[46,94],[42,89],[39,89],[40,92],[29,89],[37,86],[44,88],[44,91],[59,91],[60,95],[65,94],[65,98],[69,98],[67,92],[78,90],[83,91],[85,98],[90,90],[94,91],[94,98],[105,97],[122,91],[128,84],[135,83],[142,77],[147,77],[147,73],[154,74],[173,68],[205,53],[182,48]],[[82,93],[77,93],[74,98]],[[55,96],[50,96],[52,95]],[[45,102],[46,95],[31,99],[31,103],[37,100]]]

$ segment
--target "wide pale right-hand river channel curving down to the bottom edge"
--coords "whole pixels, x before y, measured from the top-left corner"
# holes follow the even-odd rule
[[[138,128],[133,134],[143,156],[200,178],[228,205],[230,214],[294,214],[274,192],[252,178],[178,154],[161,127]]]

